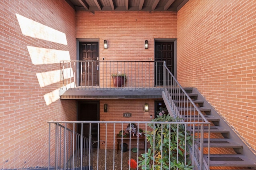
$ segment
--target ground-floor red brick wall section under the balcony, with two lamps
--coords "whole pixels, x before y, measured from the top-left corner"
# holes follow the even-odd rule
[[[148,103],[148,112],[145,111],[145,103]],[[104,104],[108,104],[108,112],[104,112]],[[123,117],[123,113],[132,113],[132,117]],[[100,100],[100,121],[150,121],[150,115],[154,119],[154,99],[114,99],[114,100]],[[124,123],[124,129],[126,129],[128,123]],[[114,124],[108,124],[108,136],[106,141],[106,147],[108,149],[113,148],[113,135]],[[139,128],[145,129],[145,125],[139,126]],[[115,134],[122,130],[122,125],[117,123],[115,125]],[[100,127],[100,140],[105,141],[106,127],[102,124]],[[143,144],[143,143],[142,143]],[[141,145],[141,143],[140,143]],[[105,145],[101,145],[105,147]]]

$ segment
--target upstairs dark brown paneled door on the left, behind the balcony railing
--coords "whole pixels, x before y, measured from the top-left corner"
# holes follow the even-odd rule
[[[79,42],[79,85],[98,86],[98,42]]]

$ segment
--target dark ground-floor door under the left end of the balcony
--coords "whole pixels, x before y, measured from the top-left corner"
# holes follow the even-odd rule
[[[78,103],[78,121],[99,121],[100,111],[99,102],[79,102]],[[78,126],[78,133],[81,134],[81,126]],[[93,141],[98,141],[98,124],[83,125],[83,136],[89,138],[91,134]]]

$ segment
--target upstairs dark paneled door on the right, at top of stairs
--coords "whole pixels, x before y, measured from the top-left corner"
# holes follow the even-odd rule
[[[167,68],[174,75],[174,42],[155,42],[155,61],[165,61]],[[156,85],[161,86],[163,82],[162,64],[156,66]]]

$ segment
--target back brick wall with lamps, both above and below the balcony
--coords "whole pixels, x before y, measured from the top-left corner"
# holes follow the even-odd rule
[[[154,60],[154,39],[177,38],[176,12],[76,12],[76,38],[100,39],[99,58],[108,61]],[[104,49],[103,41],[108,41]],[[144,49],[148,40],[148,49]],[[129,78],[128,78],[129,79]],[[108,113],[103,112],[108,104]],[[149,112],[144,111],[148,103]],[[130,112],[132,117],[124,118]],[[149,121],[154,117],[154,100],[100,100],[101,121]],[[127,124],[126,124],[127,126]],[[108,127],[107,148],[113,147],[112,127]],[[116,133],[121,127],[116,127]],[[105,127],[100,131],[105,134]],[[105,136],[100,136],[105,140]],[[102,146],[103,147],[103,146]]]

